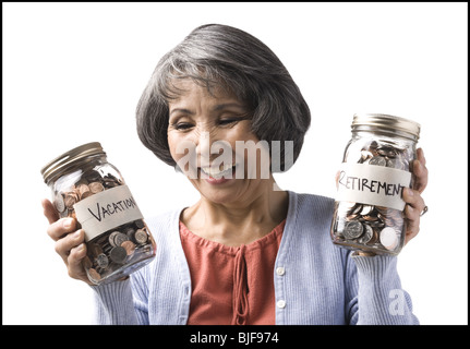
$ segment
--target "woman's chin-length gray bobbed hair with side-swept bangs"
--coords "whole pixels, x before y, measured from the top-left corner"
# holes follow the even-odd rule
[[[209,92],[216,86],[233,93],[251,109],[253,133],[268,143],[280,141],[280,166],[297,160],[310,109],[287,69],[261,40],[231,26],[207,24],[160,59],[138,100],[137,134],[170,166],[176,161],[167,140],[168,101],[181,94],[172,84],[176,79],[192,79]],[[293,160],[284,159],[285,141],[293,141]]]

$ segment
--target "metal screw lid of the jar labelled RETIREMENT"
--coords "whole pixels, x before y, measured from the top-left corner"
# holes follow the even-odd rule
[[[384,113],[354,113],[351,129],[353,131],[384,131],[401,135],[413,141],[420,137],[421,125],[418,122]]]

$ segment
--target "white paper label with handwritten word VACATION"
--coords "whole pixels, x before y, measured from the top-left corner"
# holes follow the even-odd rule
[[[128,185],[96,193],[77,202],[73,208],[85,231],[85,241],[109,229],[144,218]]]

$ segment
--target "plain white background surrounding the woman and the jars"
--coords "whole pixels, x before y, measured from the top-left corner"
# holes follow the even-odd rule
[[[144,216],[197,200],[140,142],[134,110],[158,60],[221,23],[269,46],[312,127],[282,189],[335,195],[354,112],[421,123],[430,212],[399,255],[422,324],[467,324],[467,3],[3,3],[2,322],[88,324],[92,292],[47,236],[39,169],[98,141]]]

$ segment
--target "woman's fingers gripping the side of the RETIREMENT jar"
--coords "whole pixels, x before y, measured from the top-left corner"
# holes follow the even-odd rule
[[[415,176],[413,189],[407,188],[403,191],[403,201],[407,203],[405,206],[405,219],[407,232],[405,236],[405,244],[413,239],[420,231],[421,214],[426,206],[424,200],[421,197],[422,192],[427,185],[427,168],[426,159],[422,148],[417,151],[418,158],[413,161],[413,174]]]

